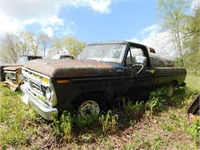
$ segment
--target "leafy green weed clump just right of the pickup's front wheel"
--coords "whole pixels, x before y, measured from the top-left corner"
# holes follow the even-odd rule
[[[109,131],[114,133],[116,130],[117,120],[118,115],[113,114],[111,110],[107,111],[106,115],[101,115],[99,117],[99,122],[102,125],[103,133],[106,134]]]

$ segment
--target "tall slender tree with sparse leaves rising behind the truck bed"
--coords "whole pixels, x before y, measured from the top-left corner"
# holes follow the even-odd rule
[[[158,10],[160,18],[163,21],[164,29],[171,32],[173,43],[177,49],[178,56],[181,60],[181,66],[184,65],[183,62],[183,42],[182,33],[183,25],[186,21],[185,12],[188,8],[188,3],[186,0],[159,0]]]

